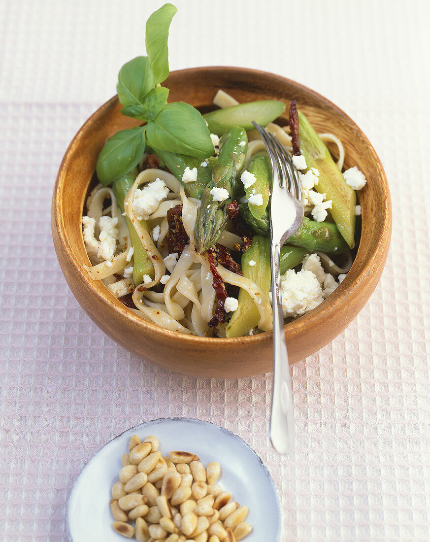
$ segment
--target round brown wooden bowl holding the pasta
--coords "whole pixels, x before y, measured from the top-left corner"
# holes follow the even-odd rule
[[[343,142],[346,166],[356,165],[367,178],[358,194],[362,206],[361,240],[346,279],[328,299],[285,326],[290,363],[320,350],[341,333],[364,307],[380,279],[391,235],[387,178],[372,145],[360,128],[323,96],[279,75],[251,69],[205,67],[179,70],[165,83],[169,101],[209,109],[219,88],[240,102],[278,99],[297,105],[319,132]],[[232,378],[272,370],[272,333],[234,339],[202,338],[167,331],[145,321],[116,300],[102,282],[88,277],[81,217],[97,156],[106,138],[138,124],[120,114],[115,96],[77,132],[64,155],[54,188],[52,232],[61,269],[75,298],[100,329],[136,356],[172,371],[203,377]],[[288,119],[288,108],[284,114]],[[286,124],[286,122],[285,122]]]

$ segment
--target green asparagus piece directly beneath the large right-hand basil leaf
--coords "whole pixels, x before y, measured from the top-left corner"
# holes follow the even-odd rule
[[[205,186],[211,180],[212,166],[205,161],[202,162],[199,158],[193,158],[185,154],[175,154],[174,152],[160,151],[158,149],[154,149],[154,152],[184,186],[186,195],[191,198],[201,199],[201,194]],[[201,164],[206,164],[206,166],[202,166]],[[183,182],[182,177],[186,167],[189,167],[190,170],[197,167],[196,182]]]

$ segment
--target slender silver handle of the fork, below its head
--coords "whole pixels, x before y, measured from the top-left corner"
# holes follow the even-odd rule
[[[280,254],[280,244],[272,241],[270,245],[270,269],[273,307],[273,388],[270,440],[273,448],[279,454],[288,454],[294,448],[294,411],[282,312],[281,275],[279,274]]]

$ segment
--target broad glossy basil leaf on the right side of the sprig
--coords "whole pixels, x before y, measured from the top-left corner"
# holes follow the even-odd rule
[[[196,158],[207,158],[215,152],[206,122],[185,102],[166,104],[147,127],[148,144],[155,149]]]

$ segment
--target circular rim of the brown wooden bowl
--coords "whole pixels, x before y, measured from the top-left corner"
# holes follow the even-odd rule
[[[224,72],[230,72],[240,75],[243,74],[249,74],[249,75],[255,75],[257,78],[259,76],[269,76],[272,80],[278,80],[279,82],[285,84],[288,83],[291,86],[296,86],[297,88],[301,89],[302,91],[305,91],[306,93],[310,94],[313,98],[317,99],[318,101],[322,101],[331,108],[336,109],[336,111],[344,118],[346,119],[349,124],[355,130],[357,133],[361,135],[361,138],[368,146],[369,151],[372,153],[372,158],[375,162],[376,169],[379,171],[379,178],[381,181],[381,189],[383,192],[383,207],[382,207],[382,224],[383,227],[381,228],[381,231],[379,233],[379,236],[377,237],[377,242],[375,244],[375,247],[373,249],[372,255],[366,260],[366,263],[364,264],[361,272],[359,275],[357,275],[357,278],[354,282],[348,283],[347,279],[342,281],[342,284],[338,287],[341,288],[341,290],[338,292],[338,295],[336,298],[330,300],[327,305],[325,304],[325,301],[323,301],[322,304],[318,305],[315,309],[312,309],[309,313],[304,314],[302,317],[298,318],[297,320],[293,320],[289,322],[288,324],[285,324],[284,330],[286,334],[286,340],[292,339],[293,337],[296,337],[298,334],[300,334],[304,327],[312,327],[316,323],[318,319],[320,319],[323,316],[323,312],[327,313],[329,310],[330,313],[338,311],[338,309],[343,306],[344,303],[348,302],[350,298],[353,297],[353,294],[356,293],[357,289],[361,289],[362,287],[362,279],[365,279],[367,276],[372,273],[372,268],[375,266],[375,260],[376,260],[376,268],[381,265],[381,262],[377,259],[377,255],[380,252],[383,252],[383,247],[385,247],[390,242],[390,233],[391,233],[391,222],[392,222],[392,209],[391,209],[391,200],[390,200],[390,193],[388,188],[388,180],[385,174],[385,171],[383,169],[381,160],[379,156],[377,156],[377,153],[373,147],[373,145],[370,143],[366,135],[363,133],[361,128],[351,119],[342,109],[340,109],[338,106],[336,106],[333,102],[322,96],[321,94],[315,92],[311,88],[302,85],[301,83],[298,83],[297,81],[294,81],[292,79],[285,78],[281,75],[274,74],[271,72],[265,72],[264,70],[257,70],[257,69],[251,69],[251,68],[241,68],[241,67],[234,67],[234,66],[202,66],[202,67],[196,67],[196,68],[185,68],[180,70],[175,70],[174,72],[171,72],[171,75],[179,75],[187,73],[194,73],[196,71],[205,73],[205,72],[213,72],[214,70],[223,70]],[[71,246],[67,240],[67,236],[65,234],[66,227],[62,220],[62,199],[61,199],[61,192],[62,187],[64,183],[65,178],[65,170],[67,168],[68,162],[70,160],[70,155],[74,151],[74,147],[77,141],[79,141],[82,137],[83,132],[86,130],[87,126],[91,125],[97,118],[99,118],[106,109],[108,109],[110,106],[112,106],[115,102],[118,101],[118,94],[110,98],[105,104],[103,104],[101,107],[96,109],[96,111],[84,122],[84,124],[80,127],[79,131],[75,134],[74,138],[70,141],[69,146],[67,147],[66,153],[63,156],[63,159],[61,160],[60,168],[58,169],[55,185],[54,185],[54,192],[53,192],[53,210],[54,210],[54,218],[55,218],[55,228],[57,230],[58,236],[61,239],[61,242],[63,243],[63,246],[66,248],[67,255],[69,257],[69,263],[72,264],[77,272],[82,276],[83,280],[86,282],[87,287],[91,289],[91,291],[101,298],[101,300],[108,305],[110,308],[114,308],[115,311],[119,311],[123,316],[128,318],[129,320],[133,321],[134,324],[142,327],[143,329],[148,329],[153,332],[159,333],[160,335],[164,335],[166,339],[180,339],[182,341],[190,341],[190,344],[207,344],[208,346],[216,346],[217,344],[221,346],[221,344],[228,346],[234,346],[238,344],[243,344],[243,341],[246,340],[247,343],[257,343],[262,341],[267,341],[270,339],[272,340],[272,332],[263,332],[258,333],[256,335],[244,335],[243,337],[233,337],[233,338],[220,338],[220,337],[198,337],[197,335],[187,335],[184,333],[179,333],[177,331],[170,331],[166,330],[164,327],[160,327],[157,324],[153,324],[152,322],[148,320],[144,320],[143,318],[139,317],[139,315],[135,314],[133,311],[129,310],[125,305],[121,303],[118,299],[113,298],[111,294],[109,293],[108,289],[106,288],[106,292],[100,292],[98,289],[94,286],[93,279],[90,279],[90,277],[86,274],[84,274],[80,264],[76,261],[76,257],[74,255],[73,250],[71,249]],[[353,266],[351,269],[354,268],[355,261],[357,260],[357,256],[360,254],[361,246],[359,244],[359,248],[357,250],[357,255],[355,257],[355,260],[353,262]],[[385,263],[382,262],[382,265]],[[327,314],[326,314],[327,316]]]

